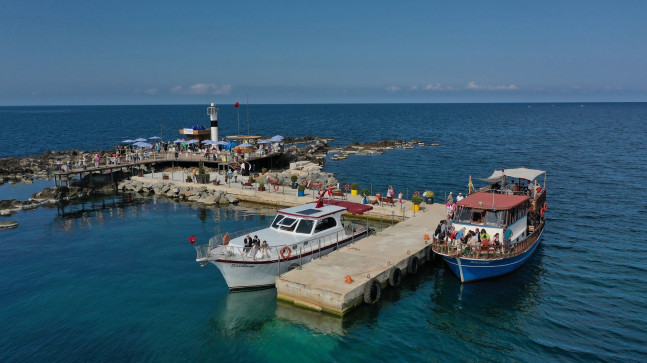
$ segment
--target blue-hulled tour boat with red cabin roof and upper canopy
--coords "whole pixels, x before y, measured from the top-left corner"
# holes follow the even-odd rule
[[[503,169],[480,180],[489,185],[474,192],[470,177],[468,196],[448,206],[446,227],[433,238],[434,252],[462,282],[522,266],[537,249],[545,225],[545,171]]]

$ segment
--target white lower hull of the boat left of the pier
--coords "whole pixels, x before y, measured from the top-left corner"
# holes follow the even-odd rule
[[[312,253],[301,256],[292,256],[289,259],[269,261],[232,261],[232,260],[209,260],[222,274],[229,290],[259,289],[273,287],[276,276],[284,274],[289,270],[308,263],[320,256],[325,256],[338,248],[349,245],[357,240],[366,237],[367,232],[362,232],[354,238],[348,238],[340,243],[329,245],[315,250]]]

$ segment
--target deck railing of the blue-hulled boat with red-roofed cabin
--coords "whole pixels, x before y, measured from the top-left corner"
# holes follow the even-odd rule
[[[508,258],[520,255],[528,250],[539,238],[544,223],[537,225],[534,230],[527,236],[522,235],[509,243],[503,243],[499,246],[470,246],[460,241],[451,241],[449,239],[439,240],[434,236],[432,238],[432,249],[434,252],[447,255],[450,257],[466,257],[473,259],[492,259]]]

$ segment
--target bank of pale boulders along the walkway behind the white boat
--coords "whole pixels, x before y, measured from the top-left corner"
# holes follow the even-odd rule
[[[176,185],[173,182],[125,180],[119,183],[117,189],[143,195],[163,195],[204,204],[238,203],[238,198],[235,195],[220,189],[208,188],[206,185]]]

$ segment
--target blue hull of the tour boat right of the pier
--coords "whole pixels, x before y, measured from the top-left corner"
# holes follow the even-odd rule
[[[473,282],[509,274],[521,267],[535,253],[541,241],[543,230],[535,243],[525,252],[508,258],[474,259],[441,255],[449,269],[461,282]]]

